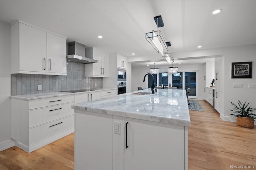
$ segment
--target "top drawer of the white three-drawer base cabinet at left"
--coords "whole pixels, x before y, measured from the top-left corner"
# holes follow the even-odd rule
[[[57,96],[51,98],[29,100],[28,109],[36,109],[40,107],[53,106],[67,102],[74,102],[74,94],[67,96]]]

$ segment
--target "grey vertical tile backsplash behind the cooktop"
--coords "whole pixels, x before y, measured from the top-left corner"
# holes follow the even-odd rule
[[[103,78],[85,77],[85,64],[67,61],[67,75],[12,74],[12,95],[102,88]],[[95,83],[97,87],[95,87]],[[42,85],[38,91],[37,86]]]

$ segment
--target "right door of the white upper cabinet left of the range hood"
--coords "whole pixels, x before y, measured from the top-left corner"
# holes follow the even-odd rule
[[[66,73],[66,39],[47,33],[47,72]]]

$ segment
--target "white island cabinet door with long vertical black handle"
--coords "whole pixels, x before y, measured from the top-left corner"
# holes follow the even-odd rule
[[[184,127],[124,118],[124,131],[124,170],[184,169]]]

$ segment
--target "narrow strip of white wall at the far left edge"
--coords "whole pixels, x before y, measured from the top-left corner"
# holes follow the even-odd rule
[[[14,146],[11,139],[11,27],[0,21],[0,151]]]

